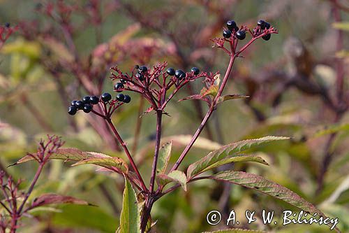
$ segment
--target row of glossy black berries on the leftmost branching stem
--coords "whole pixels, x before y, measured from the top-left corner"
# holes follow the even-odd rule
[[[86,96],[81,100],[73,100],[68,107],[68,113],[70,115],[75,115],[75,113],[79,110],[84,111],[84,113],[89,113],[93,111],[94,105],[98,104],[100,101],[106,104],[108,101],[112,99],[112,95],[110,93],[103,93],[101,97],[94,96]],[[127,94],[118,94],[115,98],[119,102],[129,103],[131,101],[131,97]]]

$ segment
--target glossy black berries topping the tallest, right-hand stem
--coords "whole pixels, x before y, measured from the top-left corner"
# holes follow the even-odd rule
[[[260,27],[260,32],[265,29],[270,28],[269,22],[265,22],[264,20],[258,20],[258,26]],[[246,38],[246,31],[248,30],[246,27],[237,27],[237,23],[234,20],[228,20],[226,24],[227,28],[223,29],[223,37],[230,38],[231,36],[235,36],[239,40],[244,40]],[[272,34],[266,34],[262,36],[265,41],[269,41],[272,37]]]

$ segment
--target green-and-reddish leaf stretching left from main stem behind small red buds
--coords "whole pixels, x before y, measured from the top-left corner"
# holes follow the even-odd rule
[[[35,160],[37,157],[38,155],[36,155],[36,153],[26,155],[13,165]],[[109,155],[96,152],[85,152],[77,148],[59,148],[57,153],[50,156],[50,160],[77,161],[77,163],[73,164],[73,166],[80,164],[96,164],[107,169],[115,170],[116,168],[124,173],[128,172],[126,162],[119,157],[111,157]]]

